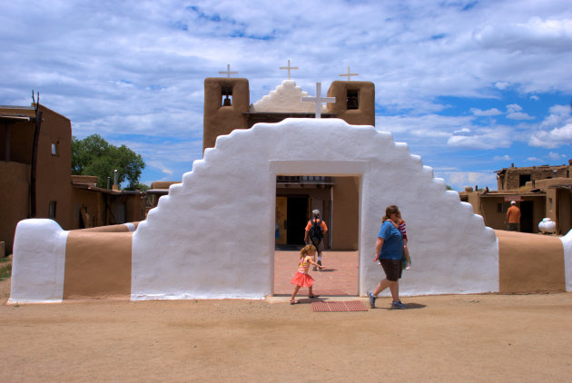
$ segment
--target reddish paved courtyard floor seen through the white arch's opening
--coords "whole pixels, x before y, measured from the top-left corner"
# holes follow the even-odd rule
[[[326,270],[310,271],[316,282],[314,294],[326,296],[358,295],[358,251],[324,251],[322,263]],[[274,295],[290,296],[293,286],[290,280],[298,270],[300,251],[276,250],[274,252]],[[299,297],[308,295],[308,289],[301,289]]]

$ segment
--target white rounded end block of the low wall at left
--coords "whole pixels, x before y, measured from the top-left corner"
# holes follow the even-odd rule
[[[8,304],[62,301],[68,232],[52,220],[18,222]]]

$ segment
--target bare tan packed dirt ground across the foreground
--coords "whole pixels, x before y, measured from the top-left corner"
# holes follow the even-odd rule
[[[286,298],[6,306],[9,282],[2,382],[572,377],[572,293],[415,297],[407,310],[382,298],[379,309],[323,313]]]

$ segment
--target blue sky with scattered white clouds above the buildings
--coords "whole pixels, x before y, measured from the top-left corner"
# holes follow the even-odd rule
[[[292,79],[313,94],[359,73],[376,128],[455,190],[572,159],[572,3],[11,1],[0,4],[0,104],[41,102],[143,155],[142,182],[202,156],[203,80],[231,64],[251,103]]]

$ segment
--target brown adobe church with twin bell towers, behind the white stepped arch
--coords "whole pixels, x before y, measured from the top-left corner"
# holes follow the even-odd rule
[[[207,78],[204,81],[203,151],[214,147],[216,138],[235,129],[250,129],[255,123],[279,123],[286,118],[314,118],[315,103],[305,103],[300,86],[285,80],[270,94],[251,103],[245,78]],[[316,97],[321,97],[317,94]],[[334,81],[330,85],[322,118],[339,118],[351,125],[375,125],[375,86],[364,81]],[[249,148],[244,148],[249,151]],[[315,142],[315,151],[327,151]],[[326,248],[358,249],[357,211],[359,179],[329,174],[279,174],[276,177],[276,244],[300,245],[311,211],[321,211],[329,231]]]

